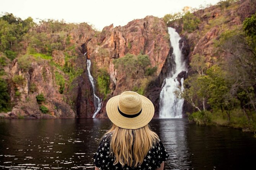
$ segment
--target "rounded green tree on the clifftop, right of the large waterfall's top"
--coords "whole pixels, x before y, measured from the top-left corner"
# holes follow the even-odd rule
[[[187,12],[182,17],[183,30],[188,32],[193,32],[199,26],[200,19],[197,18],[193,13]]]

